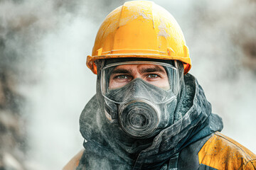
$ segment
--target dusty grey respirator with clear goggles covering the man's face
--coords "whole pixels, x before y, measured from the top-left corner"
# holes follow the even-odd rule
[[[174,122],[180,88],[176,61],[107,64],[100,86],[107,119],[130,137],[153,137]]]

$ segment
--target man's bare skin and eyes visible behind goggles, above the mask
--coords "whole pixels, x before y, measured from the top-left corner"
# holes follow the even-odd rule
[[[166,70],[156,64],[125,64],[115,67],[110,75],[109,89],[118,89],[137,78],[161,89],[170,89]]]

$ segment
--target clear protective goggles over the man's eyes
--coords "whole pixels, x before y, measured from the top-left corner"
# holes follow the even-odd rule
[[[114,103],[141,98],[164,103],[177,96],[179,88],[177,64],[132,61],[108,64],[101,71],[102,96]],[[118,95],[117,95],[118,94]],[[157,100],[154,96],[163,96]]]

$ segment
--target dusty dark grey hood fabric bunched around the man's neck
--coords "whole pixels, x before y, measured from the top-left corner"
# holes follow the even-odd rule
[[[146,140],[127,137],[118,125],[105,118],[97,91],[80,116],[80,132],[87,140],[78,169],[165,169],[171,157],[183,148],[223,128],[211,113],[203,89],[191,74],[184,84],[175,111],[174,124]],[[104,167],[104,168],[103,168]]]

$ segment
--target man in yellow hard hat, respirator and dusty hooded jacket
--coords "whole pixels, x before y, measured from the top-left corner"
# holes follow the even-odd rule
[[[85,149],[64,169],[255,169],[255,154],[220,133],[164,8],[129,1],[112,11],[87,66],[97,94],[80,116]]]

